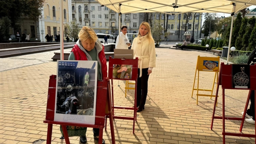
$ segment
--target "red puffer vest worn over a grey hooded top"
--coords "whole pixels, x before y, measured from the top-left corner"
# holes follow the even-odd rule
[[[75,44],[72,51],[75,55],[76,60],[87,60],[85,53],[79,48],[78,45]],[[107,67],[107,60],[104,53],[104,46],[102,45],[102,50],[99,52],[99,59],[101,63],[101,73],[102,79],[108,77],[108,67]]]

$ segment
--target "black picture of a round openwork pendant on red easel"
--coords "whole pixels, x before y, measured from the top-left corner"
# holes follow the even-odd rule
[[[250,65],[232,64],[232,87],[250,88]]]

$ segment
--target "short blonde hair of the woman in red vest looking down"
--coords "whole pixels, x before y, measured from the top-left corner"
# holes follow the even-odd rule
[[[90,39],[90,41],[92,42],[96,42],[98,37],[96,35],[96,33],[94,32],[94,30],[90,27],[84,26],[79,34],[78,37],[81,41],[86,41],[88,38]]]

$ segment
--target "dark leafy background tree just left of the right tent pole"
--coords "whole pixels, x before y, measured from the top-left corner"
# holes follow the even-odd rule
[[[205,13],[204,14],[204,25],[202,27],[202,32],[204,33],[204,36],[209,36],[209,31],[211,28],[211,34],[216,31],[217,24],[218,24],[218,17],[216,13]]]

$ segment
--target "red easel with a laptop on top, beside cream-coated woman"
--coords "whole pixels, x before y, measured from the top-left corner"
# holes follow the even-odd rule
[[[108,77],[111,79],[111,87],[112,87],[112,109],[113,109],[113,118],[115,119],[126,119],[126,120],[133,120],[133,133],[134,133],[134,127],[135,127],[135,121],[137,121],[137,78],[138,78],[138,58],[136,59],[112,59],[112,57],[109,57],[109,64],[108,64]],[[120,79],[120,78],[113,78],[113,65],[120,64],[120,65],[132,65],[132,78],[131,79]],[[131,80],[135,81],[135,95],[134,95],[134,108],[129,107],[115,107],[114,106],[114,89],[113,89],[113,79],[118,80]],[[129,109],[133,110],[133,117],[127,117],[127,116],[115,116],[114,115],[114,109]],[[106,127],[107,129],[107,117],[106,117]]]

